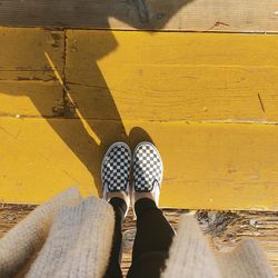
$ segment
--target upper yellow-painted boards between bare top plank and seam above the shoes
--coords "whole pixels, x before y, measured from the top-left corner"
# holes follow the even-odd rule
[[[75,117],[58,73],[85,119],[278,121],[276,36],[27,28],[0,34],[1,116]]]

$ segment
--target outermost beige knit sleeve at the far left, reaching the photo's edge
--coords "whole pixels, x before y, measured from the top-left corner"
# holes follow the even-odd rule
[[[0,277],[13,277],[42,246],[53,217],[66,205],[80,201],[77,188],[68,189],[36,208],[0,239]]]

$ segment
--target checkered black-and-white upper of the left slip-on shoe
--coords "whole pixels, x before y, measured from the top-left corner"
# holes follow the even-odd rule
[[[107,151],[101,166],[102,186],[108,191],[127,191],[130,177],[131,152],[128,146],[115,143]]]

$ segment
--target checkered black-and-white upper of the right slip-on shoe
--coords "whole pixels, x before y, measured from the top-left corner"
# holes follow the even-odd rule
[[[135,191],[150,192],[155,182],[161,183],[162,161],[153,145],[140,143],[133,153]]]

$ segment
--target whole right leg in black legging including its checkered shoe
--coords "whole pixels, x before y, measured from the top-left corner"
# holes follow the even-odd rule
[[[175,231],[158,209],[163,165],[151,142],[136,147],[132,172],[137,235],[128,277],[157,278],[165,267]]]

